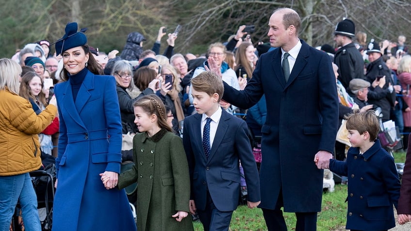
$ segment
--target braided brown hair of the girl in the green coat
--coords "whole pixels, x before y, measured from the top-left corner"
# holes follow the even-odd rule
[[[160,128],[167,129],[167,131],[173,132],[173,129],[167,123],[166,108],[157,95],[144,95],[139,98],[133,106],[142,108],[142,110],[145,111],[148,115],[155,114],[158,118],[158,126]]]

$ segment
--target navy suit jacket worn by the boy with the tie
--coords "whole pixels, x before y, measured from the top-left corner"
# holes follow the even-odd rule
[[[239,161],[244,169],[248,201],[260,201],[258,170],[245,121],[222,110],[208,159],[201,136],[201,114],[184,119],[183,145],[190,169],[191,200],[205,210],[207,188],[216,208],[234,211],[240,195]]]

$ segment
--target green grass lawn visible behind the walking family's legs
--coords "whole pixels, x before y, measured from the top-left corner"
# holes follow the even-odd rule
[[[405,152],[394,153],[395,163],[405,162]],[[301,182],[301,184],[305,184]],[[322,209],[318,213],[317,231],[345,231],[347,185],[335,185],[335,191],[322,197]],[[296,218],[293,213],[284,213],[288,230],[295,230]],[[193,222],[195,231],[203,231],[200,222]],[[248,209],[238,206],[231,219],[230,231],[267,231],[261,209]]]

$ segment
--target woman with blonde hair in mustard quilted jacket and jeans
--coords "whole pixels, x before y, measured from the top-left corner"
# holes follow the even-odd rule
[[[0,230],[8,230],[17,201],[26,230],[41,231],[37,197],[29,175],[41,166],[38,135],[54,119],[50,104],[36,115],[27,99],[18,96],[21,67],[0,59]]]

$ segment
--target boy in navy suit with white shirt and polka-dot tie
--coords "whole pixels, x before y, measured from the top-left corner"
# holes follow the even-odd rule
[[[228,231],[240,195],[239,161],[247,183],[249,208],[260,203],[258,171],[245,121],[222,110],[224,92],[217,74],[206,71],[191,79],[198,114],[184,120],[183,145],[190,170],[190,212],[205,231]]]

